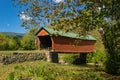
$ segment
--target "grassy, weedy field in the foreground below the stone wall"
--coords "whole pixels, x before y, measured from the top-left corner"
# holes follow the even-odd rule
[[[104,71],[88,65],[54,64],[45,61],[24,62],[1,65],[0,80],[120,80],[120,76],[112,76]]]

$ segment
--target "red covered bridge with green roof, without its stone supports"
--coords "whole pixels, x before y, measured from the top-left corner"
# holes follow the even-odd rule
[[[37,37],[39,49],[50,49],[54,53],[90,53],[94,51],[96,42],[91,35],[80,36],[48,27],[40,28]]]

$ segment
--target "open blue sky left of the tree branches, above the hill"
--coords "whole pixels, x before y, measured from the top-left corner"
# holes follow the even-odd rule
[[[20,26],[21,19],[17,16],[18,8],[13,6],[12,0],[0,0],[0,32],[25,33]]]

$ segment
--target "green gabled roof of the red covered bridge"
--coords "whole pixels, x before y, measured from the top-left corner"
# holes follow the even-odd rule
[[[64,37],[69,37],[69,38],[75,38],[75,39],[84,39],[84,40],[96,40],[93,36],[91,35],[85,35],[85,36],[80,36],[79,34],[73,33],[73,32],[64,32],[62,30],[54,30],[52,28],[48,27],[41,27],[37,34],[44,29],[49,35],[57,35],[57,36],[64,36]]]

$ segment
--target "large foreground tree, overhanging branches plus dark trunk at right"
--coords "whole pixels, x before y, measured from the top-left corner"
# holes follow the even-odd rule
[[[88,31],[99,28],[108,53],[106,70],[120,74],[119,0],[64,0],[60,3],[54,0],[15,1],[20,6],[27,6],[24,12],[33,21],[50,23],[55,29],[88,34]]]

